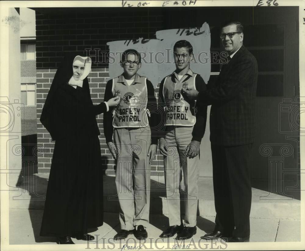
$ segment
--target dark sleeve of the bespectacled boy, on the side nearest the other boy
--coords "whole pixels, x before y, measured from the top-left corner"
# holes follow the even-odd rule
[[[151,140],[152,144],[158,143],[158,120],[159,114],[157,112],[157,100],[155,96],[155,89],[153,88],[152,83],[146,79],[146,86],[147,86],[147,109],[149,110],[148,116],[149,118],[149,126],[151,130]]]

